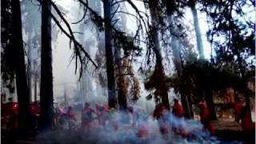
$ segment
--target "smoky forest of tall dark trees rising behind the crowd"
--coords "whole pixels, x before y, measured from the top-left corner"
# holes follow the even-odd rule
[[[60,3],[1,1],[1,97],[3,87],[17,94],[18,130],[34,130],[30,103],[38,101],[38,130],[53,130],[53,50],[63,49],[72,50],[66,59],[78,79],[78,110],[92,105],[85,95],[95,87],[93,95],[106,95],[102,105],[120,111],[125,119],[134,113],[130,106],[142,98],[156,110],[161,104],[170,112],[178,98],[186,120],[194,119],[194,107],[205,99],[211,121],[219,120],[219,108],[242,102],[252,123],[254,0],[70,0],[72,11]],[[186,20],[188,13],[192,22]],[[208,26],[206,40],[202,15]],[[61,34],[69,46],[56,46]]]

